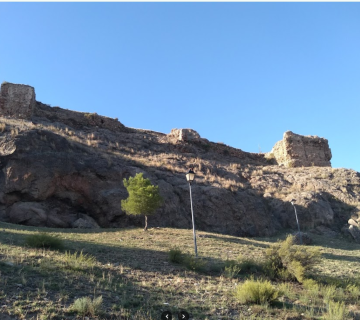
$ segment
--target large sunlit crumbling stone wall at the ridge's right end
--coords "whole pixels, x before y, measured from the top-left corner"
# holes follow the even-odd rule
[[[284,133],[270,152],[279,165],[286,167],[331,167],[331,150],[327,139]]]

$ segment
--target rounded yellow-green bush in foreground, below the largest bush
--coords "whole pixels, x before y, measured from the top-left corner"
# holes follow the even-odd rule
[[[266,304],[278,297],[276,290],[268,280],[246,280],[236,288],[236,297],[240,303]]]

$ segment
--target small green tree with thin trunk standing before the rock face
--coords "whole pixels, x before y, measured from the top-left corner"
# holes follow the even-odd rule
[[[142,173],[135,177],[124,179],[124,186],[129,197],[121,200],[121,209],[132,215],[145,215],[145,228],[147,230],[147,216],[155,213],[156,209],[163,203],[159,187],[151,184],[149,179],[143,178]]]

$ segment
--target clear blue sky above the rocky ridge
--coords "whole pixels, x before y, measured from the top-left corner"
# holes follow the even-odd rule
[[[360,3],[0,3],[0,81],[133,128],[268,152],[291,130],[360,171]]]

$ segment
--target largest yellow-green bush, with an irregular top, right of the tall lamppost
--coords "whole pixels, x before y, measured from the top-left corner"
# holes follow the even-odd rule
[[[315,248],[296,246],[294,236],[289,235],[280,244],[266,251],[265,272],[271,278],[297,280],[302,283],[306,273],[320,260],[320,252]]]

